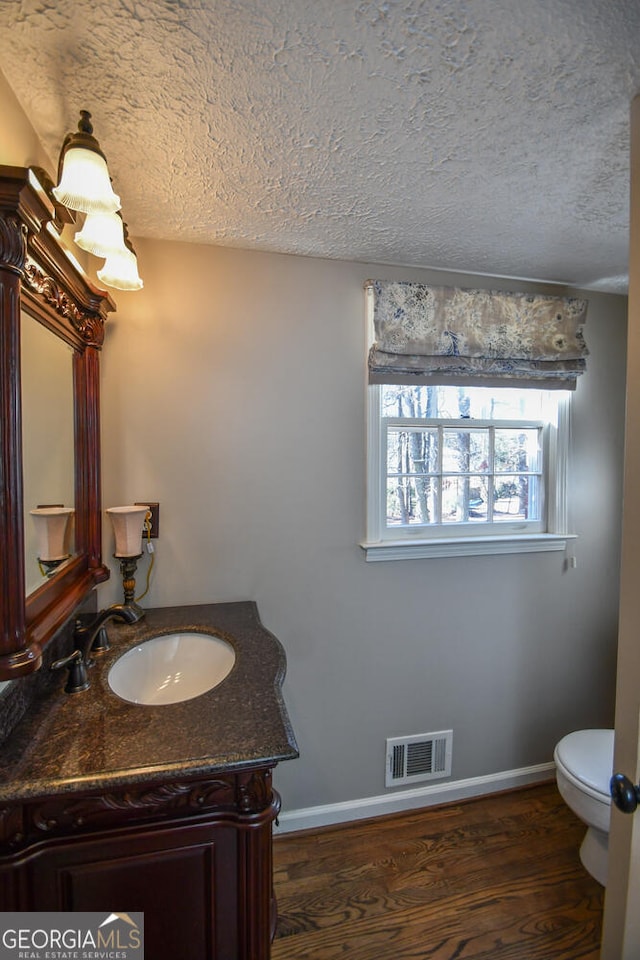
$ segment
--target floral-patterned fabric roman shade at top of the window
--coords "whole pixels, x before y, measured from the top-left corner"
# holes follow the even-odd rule
[[[573,390],[589,351],[587,301],[368,280],[370,383]]]

